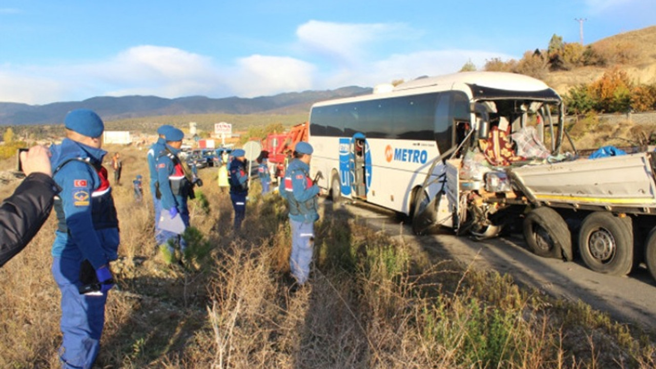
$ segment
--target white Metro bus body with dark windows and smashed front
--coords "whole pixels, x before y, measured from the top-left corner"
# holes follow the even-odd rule
[[[432,167],[440,154],[493,116],[523,127],[527,114],[537,114],[544,135],[544,122],[551,120],[544,103],[559,104],[560,97],[538,79],[501,72],[426,77],[391,91],[318,102],[310,111],[312,172],[321,171],[319,186],[333,198],[364,200],[411,215],[413,197],[431,168],[424,192],[429,200],[444,196],[445,165]],[[456,201],[457,193],[449,197]],[[451,226],[453,211],[457,204],[441,204],[443,225]]]

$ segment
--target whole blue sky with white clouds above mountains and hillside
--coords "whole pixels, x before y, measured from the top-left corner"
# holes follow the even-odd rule
[[[257,97],[457,72],[656,24],[654,0],[0,0],[0,101]]]

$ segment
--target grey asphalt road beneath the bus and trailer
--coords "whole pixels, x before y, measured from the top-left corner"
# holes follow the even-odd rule
[[[451,232],[415,236],[409,225],[398,223],[392,211],[358,202],[335,205],[325,200],[325,206],[345,209],[370,227],[384,229],[390,236],[435,255],[436,260],[453,259],[510,274],[520,286],[569,301],[581,300],[618,322],[656,332],[656,281],[644,266],[629,276],[609,276],[591,271],[576,257],[571,262],[539,257],[527,249],[522,234],[484,241]]]

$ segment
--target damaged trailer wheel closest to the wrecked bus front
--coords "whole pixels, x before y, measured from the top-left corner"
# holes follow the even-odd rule
[[[571,260],[572,238],[563,217],[550,207],[537,207],[526,215],[523,234],[535,255]]]

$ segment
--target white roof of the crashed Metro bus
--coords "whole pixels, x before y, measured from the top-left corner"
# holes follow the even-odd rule
[[[401,83],[391,89],[391,91],[383,89],[380,93],[317,102],[314,106],[447,91],[451,90],[454,85],[476,87],[478,91],[472,91],[470,96],[477,95],[478,92],[478,97],[481,98],[485,96],[489,98],[502,98],[512,97],[514,95],[517,95],[516,97],[518,98],[526,98],[533,95],[532,93],[534,92],[536,98],[560,100],[558,93],[546,85],[546,83],[523,74],[507,72],[459,72],[444,76],[421,77]]]

